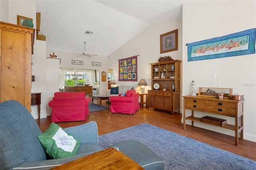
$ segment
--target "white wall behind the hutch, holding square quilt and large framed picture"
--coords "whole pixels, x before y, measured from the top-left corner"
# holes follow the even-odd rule
[[[160,35],[178,29],[178,51],[160,54]],[[138,56],[138,81],[118,81],[118,59]],[[138,85],[140,79],[145,79],[151,89],[151,65],[158,62],[160,56],[170,55],[173,59],[182,60],[182,21],[166,22],[150,26],[129,42],[122,45],[107,57],[107,68],[113,68],[114,81],[119,85]]]

